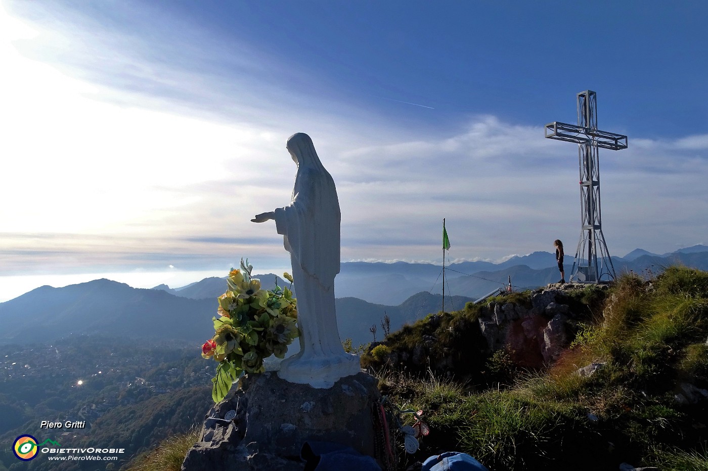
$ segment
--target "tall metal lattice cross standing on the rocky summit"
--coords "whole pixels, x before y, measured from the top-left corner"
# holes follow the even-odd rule
[[[598,283],[605,275],[614,279],[615,267],[607,252],[600,220],[598,149],[627,149],[627,136],[598,130],[598,99],[594,91],[586,90],[578,93],[578,125],[546,124],[546,137],[578,144],[582,227],[570,280]]]

